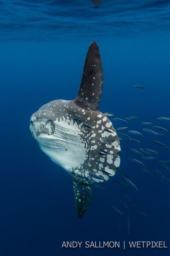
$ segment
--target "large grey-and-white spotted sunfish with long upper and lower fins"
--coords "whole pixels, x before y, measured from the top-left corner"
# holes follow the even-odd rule
[[[98,110],[102,90],[100,52],[92,42],[76,99],[53,100],[30,120],[39,147],[72,176],[78,217],[90,206],[93,184],[107,181],[120,165],[117,134],[112,122]]]

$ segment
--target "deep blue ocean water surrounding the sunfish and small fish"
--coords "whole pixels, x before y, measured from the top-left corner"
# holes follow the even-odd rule
[[[170,151],[151,142],[170,147],[170,134],[152,126],[147,128],[166,136],[147,134],[141,124],[152,122],[170,130],[170,122],[157,120],[170,117],[169,30],[168,0],[0,1],[1,256],[169,255],[169,248],[128,247],[128,241],[165,241],[170,247],[170,183],[155,172],[170,179],[158,162],[170,160]],[[132,178],[140,192],[113,183],[124,181],[117,172],[102,184],[104,190],[94,189],[97,199],[78,219],[71,176],[39,149],[29,124],[32,113],[43,104],[76,97],[92,41],[99,46],[104,69],[100,111],[118,118],[139,117],[127,126],[143,134],[131,135],[142,143],[122,137],[119,170]],[[148,90],[137,89],[136,84]],[[113,126],[126,125],[113,121]],[[127,130],[120,132],[129,135]],[[145,160],[131,151],[140,147],[159,156]],[[129,157],[145,163],[154,178]],[[125,201],[124,194],[148,216]],[[121,248],[64,249],[63,241],[120,241]]]

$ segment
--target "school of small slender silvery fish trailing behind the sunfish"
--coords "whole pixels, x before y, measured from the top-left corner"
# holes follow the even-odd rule
[[[141,85],[134,85],[134,87],[138,89],[148,89],[148,87],[141,86]],[[110,113],[105,113],[105,115],[115,116],[115,114],[110,114]],[[139,128],[138,129],[132,128],[132,130],[129,129],[129,126],[131,126],[132,124],[135,125],[135,121],[138,122],[137,127],[139,127],[140,125],[140,129]],[[141,171],[146,172],[146,175],[148,174],[152,178],[155,178],[158,176],[161,181],[170,182],[170,157],[169,159],[164,159],[164,153],[163,153],[163,151],[168,151],[170,149],[170,130],[169,130],[170,128],[168,128],[168,125],[170,126],[170,117],[157,117],[157,120],[155,120],[155,122],[153,121],[146,122],[145,120],[140,121],[140,117],[137,117],[137,116],[127,116],[124,118],[120,118],[120,117],[117,117],[116,115],[116,117],[112,118],[112,122],[114,127],[117,126],[115,130],[117,131],[119,139],[125,141],[126,144],[129,143],[128,159],[129,161],[133,162],[134,168],[136,167],[136,169],[140,169]],[[123,122],[126,122],[127,125],[121,126]],[[166,123],[166,127],[164,127],[165,123]],[[107,131],[107,129],[105,130]],[[124,130],[125,133],[124,131],[123,133],[119,132],[121,130]],[[147,136],[147,139],[149,138],[148,139],[150,143],[149,148],[148,146],[145,147],[145,145],[141,147],[143,143],[143,137],[145,136]],[[164,137],[165,139],[162,142],[162,138]],[[154,144],[157,145],[156,151],[154,148],[155,147]],[[107,156],[107,152],[101,151],[101,153]],[[158,166],[157,168],[159,168],[159,170],[154,170],[154,171],[149,170],[150,168],[147,167],[147,163],[148,162],[152,163],[152,161],[157,162],[157,166]],[[120,186],[126,187],[127,189],[132,188],[134,190],[137,190],[137,192],[140,192],[140,189],[138,188],[138,186],[134,184],[134,181],[132,181],[132,178],[130,178],[126,174],[126,172],[123,172],[122,170],[119,170],[119,169],[117,171],[123,176],[123,180],[116,180],[116,175],[115,175],[114,180],[112,180],[115,185],[118,184]],[[143,212],[143,210],[138,208],[136,205],[134,205],[126,195],[123,195],[123,196],[124,198],[121,200],[123,208],[119,206],[121,207],[119,210],[119,207],[113,205],[113,209],[116,212],[116,214],[119,215],[118,223],[117,223],[119,231],[121,230],[121,218],[126,217],[127,232],[128,234],[130,234],[131,218],[129,214],[129,206],[131,206],[136,212],[138,212],[143,216],[148,216],[148,214]]]

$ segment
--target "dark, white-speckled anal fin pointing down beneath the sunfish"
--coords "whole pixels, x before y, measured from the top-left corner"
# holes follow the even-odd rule
[[[74,196],[77,216],[81,218],[88,210],[92,199],[92,184],[86,184],[82,179],[73,177]]]

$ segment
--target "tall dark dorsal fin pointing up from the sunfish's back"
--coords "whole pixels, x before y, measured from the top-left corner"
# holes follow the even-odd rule
[[[86,55],[79,92],[74,102],[81,107],[98,110],[102,91],[103,68],[99,47],[96,42],[92,42]]]

